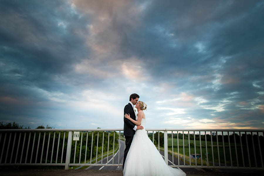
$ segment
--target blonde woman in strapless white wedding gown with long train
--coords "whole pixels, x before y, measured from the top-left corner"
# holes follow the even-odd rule
[[[136,104],[138,110],[136,121],[130,118],[130,114],[125,114],[125,118],[137,126],[143,126],[144,129],[136,130],[126,157],[123,175],[185,176],[186,174],[181,170],[172,168],[165,163],[155,145],[148,138],[145,130],[146,119],[143,112],[146,108],[147,105],[143,101],[138,101]]]

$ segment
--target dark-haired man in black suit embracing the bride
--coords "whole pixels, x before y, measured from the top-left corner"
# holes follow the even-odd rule
[[[124,152],[123,169],[126,161],[126,155],[132,143],[133,136],[136,130],[143,129],[143,126],[136,126],[130,120],[125,118],[125,114],[130,114],[131,119],[136,120],[136,110],[134,109],[134,105],[137,104],[138,99],[139,99],[138,94],[131,94],[129,97],[129,102],[124,108],[124,136],[126,138],[126,148]]]

